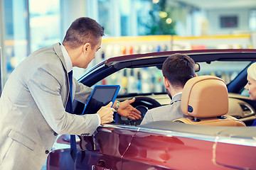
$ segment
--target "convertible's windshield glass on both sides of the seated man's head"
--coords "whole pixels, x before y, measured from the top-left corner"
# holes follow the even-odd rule
[[[250,62],[214,61],[199,62],[198,76],[213,75],[229,84]],[[166,93],[161,69],[157,67],[126,68],[111,74],[95,85],[119,84],[119,95]]]

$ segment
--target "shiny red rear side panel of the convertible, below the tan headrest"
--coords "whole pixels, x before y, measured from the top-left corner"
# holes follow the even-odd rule
[[[124,154],[122,170],[218,169],[212,162],[214,142],[175,136],[168,130],[151,130],[144,128],[145,132],[133,137]]]

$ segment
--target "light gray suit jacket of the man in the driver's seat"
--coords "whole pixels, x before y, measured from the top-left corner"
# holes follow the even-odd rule
[[[145,117],[140,125],[160,120],[175,120],[178,118],[186,118],[181,111],[181,94],[177,94],[172,98],[171,103],[166,106],[152,108],[146,112]]]

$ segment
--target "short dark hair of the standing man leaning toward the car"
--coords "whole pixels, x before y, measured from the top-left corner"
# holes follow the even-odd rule
[[[99,23],[91,18],[82,17],[76,19],[68,28],[63,45],[75,49],[89,42],[94,48],[103,35],[104,28]]]

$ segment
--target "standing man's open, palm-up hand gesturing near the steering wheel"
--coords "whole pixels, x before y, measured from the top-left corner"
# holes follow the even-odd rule
[[[117,113],[132,120],[142,118],[142,113],[140,113],[140,111],[138,111],[136,108],[130,105],[130,103],[133,103],[134,101],[135,98],[120,102],[119,108],[117,109]]]

